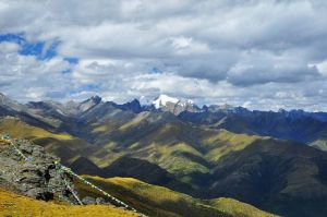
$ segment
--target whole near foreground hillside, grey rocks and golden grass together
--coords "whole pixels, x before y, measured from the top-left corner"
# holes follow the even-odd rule
[[[11,143],[9,144],[5,141],[0,143],[0,170],[2,171],[0,173],[0,188],[5,189],[5,191],[0,190],[0,198],[5,200],[3,204],[0,204],[0,206],[3,206],[1,209],[3,213],[0,214],[15,216],[62,216],[65,214],[77,216],[82,212],[85,215],[93,212],[95,216],[100,216],[105,215],[105,212],[112,212],[112,216],[124,215],[124,213],[119,213],[118,208],[111,206],[111,204],[118,206],[121,206],[121,204],[112,201],[112,198],[104,197],[104,194],[96,190],[94,185],[86,185],[85,182],[80,182],[80,179],[73,179],[70,172],[65,172],[66,170],[58,167],[57,161],[59,159],[46,153],[41,146],[24,140],[11,140]],[[230,206],[233,207],[233,212],[241,212],[238,208],[239,202],[235,201],[227,204],[216,203],[220,207],[216,208],[209,206],[205,201],[195,200],[185,194],[131,178],[113,178],[110,180],[88,178],[90,178],[92,183],[100,186],[106,192],[152,216],[185,216],[187,212],[191,212],[189,216],[238,216],[233,213],[223,212],[223,207]],[[11,191],[11,193],[8,191]],[[29,198],[14,195],[12,192],[29,196]],[[81,203],[78,198],[76,200],[76,195],[84,204],[101,205],[63,206],[62,203],[66,202],[70,204]],[[158,195],[160,196],[158,197]],[[45,204],[44,202],[43,204],[43,202],[35,202],[32,198],[47,201],[48,203]],[[108,202],[110,202],[110,206],[105,208],[104,204],[108,205]],[[53,203],[60,203],[61,205]],[[16,206],[20,207],[16,208]],[[28,210],[26,210],[26,206],[28,206]],[[258,209],[245,204],[240,204],[240,209],[243,213],[246,210],[247,213],[261,214]]]

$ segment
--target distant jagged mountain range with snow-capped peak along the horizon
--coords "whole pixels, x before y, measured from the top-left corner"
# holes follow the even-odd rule
[[[195,125],[292,140],[322,149],[327,146],[325,143],[327,112],[283,109],[259,111],[230,105],[204,105],[199,108],[190,99],[180,100],[167,95],[160,95],[149,105],[141,105],[137,99],[120,105],[113,101],[102,101],[99,96],[93,96],[82,103],[29,101],[21,105],[2,94],[0,103],[1,116],[20,117],[33,125],[57,131],[74,131],[74,128],[69,126],[68,121],[85,123],[94,122],[95,119],[102,119],[102,121],[110,119],[110,121],[123,122],[142,112],[167,111]]]

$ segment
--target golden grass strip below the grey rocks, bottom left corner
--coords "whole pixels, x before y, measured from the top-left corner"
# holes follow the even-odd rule
[[[0,216],[11,217],[136,217],[137,214],[113,206],[73,206],[36,201],[0,189]]]

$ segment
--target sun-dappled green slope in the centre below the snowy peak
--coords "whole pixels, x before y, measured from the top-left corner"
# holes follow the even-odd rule
[[[223,155],[243,149],[256,140],[266,140],[196,126],[171,116],[141,113],[121,126],[94,124],[95,143],[107,154],[95,154],[92,160],[105,167],[129,155],[156,164],[189,182],[192,173],[210,173]]]

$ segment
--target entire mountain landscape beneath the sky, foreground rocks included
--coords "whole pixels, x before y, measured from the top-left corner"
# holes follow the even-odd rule
[[[167,95],[147,105],[99,96],[81,103],[19,104],[1,95],[0,110],[0,131],[14,140],[14,145],[1,144],[0,183],[7,197],[12,192],[78,204],[75,192],[83,204],[120,207],[104,196],[107,192],[129,204],[126,212],[149,216],[327,212],[324,112],[201,108]],[[83,178],[57,173],[56,161]]]

